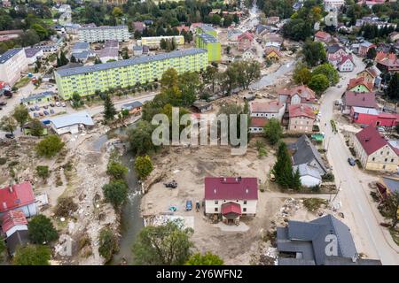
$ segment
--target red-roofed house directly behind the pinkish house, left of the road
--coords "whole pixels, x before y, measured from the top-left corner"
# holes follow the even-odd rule
[[[305,85],[280,89],[278,91],[278,102],[284,103],[287,106],[291,104],[306,104],[314,111],[318,108],[315,92]]]

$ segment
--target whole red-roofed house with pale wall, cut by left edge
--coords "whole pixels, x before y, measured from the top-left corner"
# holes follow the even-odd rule
[[[37,214],[35,194],[30,182],[0,188],[0,216],[10,210],[22,210],[27,218]]]

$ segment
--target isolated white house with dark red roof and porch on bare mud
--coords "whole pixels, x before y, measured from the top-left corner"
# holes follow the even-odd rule
[[[238,223],[241,216],[255,216],[258,179],[252,177],[206,177],[205,213],[222,216],[226,224]]]

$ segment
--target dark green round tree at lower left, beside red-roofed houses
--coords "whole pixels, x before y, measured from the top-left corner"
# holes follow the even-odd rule
[[[59,233],[51,223],[51,219],[43,214],[36,215],[27,224],[29,238],[35,244],[48,244],[59,239]]]

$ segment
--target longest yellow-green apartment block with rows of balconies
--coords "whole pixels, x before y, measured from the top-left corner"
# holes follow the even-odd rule
[[[80,96],[93,95],[96,90],[126,88],[137,82],[160,80],[168,68],[177,73],[205,70],[208,65],[207,50],[177,50],[154,56],[88,65],[54,72],[59,96],[65,100],[74,92]]]

